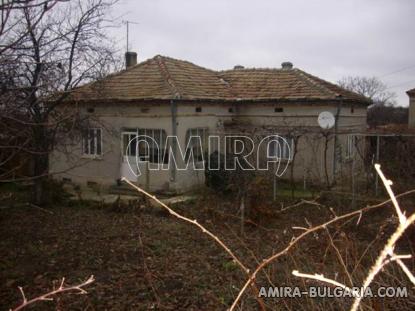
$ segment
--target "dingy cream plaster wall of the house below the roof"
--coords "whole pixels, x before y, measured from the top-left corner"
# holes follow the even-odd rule
[[[195,108],[201,107],[201,112],[196,112]],[[186,132],[190,128],[208,128],[209,133],[218,133],[220,127],[226,120],[232,120],[237,116],[240,120],[246,119],[258,126],[290,126],[303,127],[305,129],[318,128],[317,117],[322,111],[331,111],[336,114],[337,107],[333,105],[299,105],[299,104],[243,104],[234,112],[229,112],[232,104],[177,104],[177,135],[181,144],[182,151],[185,150]],[[274,112],[275,107],[282,107],[283,112]],[[88,108],[94,108],[90,113],[99,120],[97,126],[103,128],[103,155],[99,159],[91,159],[82,155],[81,143],[78,142],[69,146],[67,151],[55,150],[50,156],[50,170],[56,173],[57,178],[69,178],[75,183],[85,185],[87,182],[94,182],[103,187],[115,185],[116,180],[121,177],[120,167],[122,161],[121,152],[121,132],[123,129],[144,128],[144,129],[163,129],[167,135],[172,135],[172,117],[169,104],[102,104],[88,105],[82,108],[83,114],[89,114]],[[144,112],[143,108],[148,108]],[[350,106],[341,109],[341,117],[338,129],[361,131],[366,128],[366,108],[354,107],[351,112]],[[345,136],[344,136],[345,137]],[[341,143],[345,138],[340,137]],[[316,152],[312,152],[305,143],[298,146],[298,158],[300,163],[295,168],[296,178],[303,178],[305,174],[310,174],[307,178],[323,178],[324,168],[322,164],[322,149],[317,147]],[[301,152],[300,152],[301,151]],[[329,146],[328,154],[332,161],[333,147]],[[313,161],[317,162],[311,164]],[[152,164],[150,164],[152,165]],[[315,173],[306,172],[308,166],[315,166]],[[331,174],[330,166],[330,174]],[[195,185],[204,183],[203,171],[177,171],[176,181],[171,180],[171,172],[168,170],[149,171],[138,178],[138,183],[149,190],[175,189],[184,191]],[[312,174],[316,176],[311,177]]]

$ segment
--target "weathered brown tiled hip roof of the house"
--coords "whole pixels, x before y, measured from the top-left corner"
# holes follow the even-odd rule
[[[213,71],[157,55],[72,92],[77,100],[344,100],[370,101],[299,69]]]

